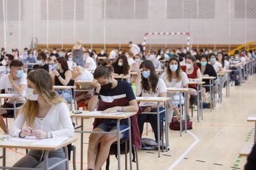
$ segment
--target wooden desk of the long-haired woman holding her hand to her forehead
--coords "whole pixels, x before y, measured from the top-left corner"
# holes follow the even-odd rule
[[[168,120],[168,102],[171,100],[171,97],[136,97],[137,102],[153,102],[157,103],[156,112],[143,112],[140,114],[153,114],[157,116],[157,129],[158,129],[158,157],[160,157],[160,113],[163,113],[165,111],[165,120]],[[159,111],[159,104],[164,103],[165,110]],[[168,123],[165,123],[165,136],[166,136],[166,147],[165,150],[168,152]],[[148,127],[147,127],[148,131]],[[163,139],[163,136],[162,136]],[[162,151],[163,151],[163,140],[162,140]]]

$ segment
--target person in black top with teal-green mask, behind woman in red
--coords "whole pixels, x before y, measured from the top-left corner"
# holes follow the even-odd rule
[[[217,73],[216,73],[213,65],[208,63],[207,55],[202,55],[199,67],[200,67],[200,70],[201,70],[201,73],[202,73],[203,76],[217,77]],[[203,81],[205,81],[205,84],[203,84],[203,85],[209,85],[210,84],[209,79],[204,79]],[[218,84],[215,84],[215,85],[218,87]],[[215,87],[216,91],[217,91],[217,89]],[[202,95],[203,95],[204,100],[205,100],[205,97],[206,97],[206,93],[209,92],[209,91],[210,91],[210,87],[202,87]]]

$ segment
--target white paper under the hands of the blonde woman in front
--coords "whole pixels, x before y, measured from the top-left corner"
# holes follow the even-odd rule
[[[54,137],[49,139],[40,139],[34,142],[32,145],[48,145],[48,146],[58,146],[62,144],[68,137]]]

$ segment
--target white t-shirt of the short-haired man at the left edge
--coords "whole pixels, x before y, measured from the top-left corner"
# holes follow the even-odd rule
[[[14,79],[14,83],[17,84],[17,86],[20,86],[20,84],[27,85],[27,75],[23,73],[22,78]],[[0,89],[4,89],[6,91],[6,94],[15,94],[14,87],[12,87],[11,82],[9,81],[9,75],[5,75],[0,79]],[[26,88],[23,89],[22,95],[26,94]],[[8,103],[14,103],[13,100],[8,100]],[[24,103],[25,99],[16,100],[16,103]]]

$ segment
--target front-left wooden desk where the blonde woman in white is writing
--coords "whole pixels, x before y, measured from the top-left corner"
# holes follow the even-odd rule
[[[11,136],[6,136],[6,135],[1,135],[1,138],[4,138],[4,141],[0,140],[0,147],[2,148],[2,159],[3,159],[3,165],[0,166],[0,169],[10,169],[11,167],[6,166],[6,148],[25,148],[25,149],[30,149],[30,150],[43,150],[44,151],[44,160],[45,160],[45,168],[41,169],[53,169],[53,166],[62,163],[66,163],[66,168],[69,169],[69,155],[67,152],[67,145],[72,144],[72,142],[75,142],[74,138],[69,138],[66,141],[62,142],[60,145],[33,145],[34,142],[17,142],[17,141],[12,141],[12,140],[7,140],[8,138],[12,138]],[[64,147],[64,152],[65,152],[65,158],[62,161],[59,161],[59,163],[56,163],[52,165],[51,167],[48,167],[48,155],[50,151],[53,150],[58,150],[59,148]],[[34,168],[15,168],[15,169],[34,169]]]

